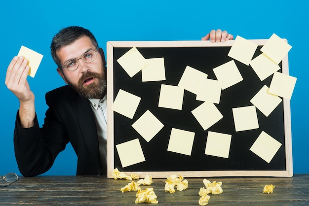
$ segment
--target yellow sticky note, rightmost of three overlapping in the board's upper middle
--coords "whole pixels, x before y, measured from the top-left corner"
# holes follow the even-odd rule
[[[222,82],[222,89],[229,88],[243,80],[234,60],[214,68],[213,71],[217,79]]]

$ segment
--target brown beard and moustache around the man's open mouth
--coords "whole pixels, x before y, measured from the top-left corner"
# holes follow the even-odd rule
[[[67,82],[69,86],[83,98],[102,99],[106,94],[106,76],[103,71],[104,69],[102,69],[101,73],[87,71],[82,74],[77,84],[69,82],[68,80]],[[85,80],[94,77],[98,80],[97,82],[94,81],[92,84],[84,85]]]

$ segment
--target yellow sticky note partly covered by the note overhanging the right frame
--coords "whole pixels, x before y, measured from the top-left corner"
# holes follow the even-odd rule
[[[264,85],[262,89],[250,100],[265,116],[270,113],[282,102],[277,95],[268,92],[268,86]]]

